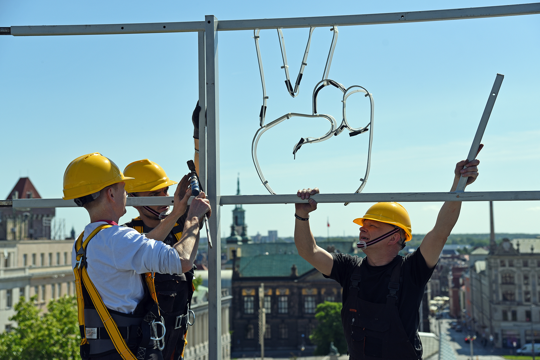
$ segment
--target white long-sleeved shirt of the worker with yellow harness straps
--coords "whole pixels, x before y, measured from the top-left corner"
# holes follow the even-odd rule
[[[105,221],[84,228],[84,239]],[[77,240],[76,240],[77,241]],[[71,264],[75,266],[75,246]],[[131,227],[111,226],[99,231],[86,247],[86,270],[105,306],[120,313],[132,313],[144,296],[139,274],[181,274],[178,252],[163,241],[139,234]]]

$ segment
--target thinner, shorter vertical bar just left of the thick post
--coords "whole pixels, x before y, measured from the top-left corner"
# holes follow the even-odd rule
[[[207,189],[206,184],[206,57],[204,31],[198,32],[199,37],[199,182],[203,189]]]

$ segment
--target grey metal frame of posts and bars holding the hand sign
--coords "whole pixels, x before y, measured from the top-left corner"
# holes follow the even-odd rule
[[[165,32],[198,32],[199,44],[199,176],[207,190],[213,214],[210,217],[211,236],[215,251],[209,252],[209,328],[208,358],[221,360],[221,239],[220,206],[228,204],[279,204],[305,202],[296,195],[240,195],[220,196],[219,158],[219,86],[218,86],[218,31],[285,29],[294,27],[349,26],[396,24],[456,19],[475,19],[540,13],[540,3],[485,6],[468,9],[447,9],[413,12],[393,12],[367,15],[297,17],[281,19],[222,20],[206,16],[204,22],[174,22],[145,24],[101,25],[42,25],[0,27],[0,34],[12,36],[54,36],[95,34],[136,34]],[[206,105],[206,129],[204,126]],[[206,130],[206,131],[205,131]],[[482,131],[483,132],[483,131]],[[475,137],[476,141],[476,137]],[[473,143],[474,147],[474,143]],[[319,194],[320,203],[342,202],[443,202],[443,201],[507,201],[540,200],[540,191],[487,192],[427,192],[427,193],[353,193]],[[128,198],[127,205],[171,204],[172,198]],[[0,201],[1,207],[75,207],[62,199],[16,199]]]

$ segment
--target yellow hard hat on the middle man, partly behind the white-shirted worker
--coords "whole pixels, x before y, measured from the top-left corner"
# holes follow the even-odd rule
[[[165,174],[165,170],[148,159],[134,161],[124,169],[126,176],[133,176],[134,181],[126,183],[126,192],[154,191],[174,184]]]

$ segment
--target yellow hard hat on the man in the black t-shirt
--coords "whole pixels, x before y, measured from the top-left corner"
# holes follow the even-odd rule
[[[409,213],[399,203],[376,203],[366,211],[363,217],[354,219],[353,223],[362,226],[365,219],[381,221],[381,223],[401,227],[406,232],[405,241],[413,238]]]

